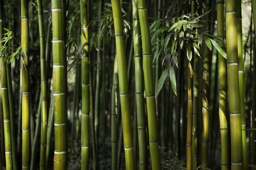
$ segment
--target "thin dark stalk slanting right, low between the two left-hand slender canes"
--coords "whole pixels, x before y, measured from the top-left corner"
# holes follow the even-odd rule
[[[41,99],[41,96],[40,96]],[[34,170],[35,169],[35,164],[36,163],[36,155],[38,153],[38,142],[39,142],[39,135],[40,135],[40,130],[41,130],[41,101],[39,101],[38,103],[38,113],[37,113],[37,120],[36,120],[36,127],[35,127],[35,138],[34,141],[32,143],[32,151],[31,151],[31,166],[30,166],[30,170]]]

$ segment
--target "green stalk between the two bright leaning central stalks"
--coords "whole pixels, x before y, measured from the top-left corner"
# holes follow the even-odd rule
[[[140,21],[137,8],[137,0],[132,1],[133,7],[133,38],[134,38],[134,67],[135,67],[135,95],[137,109],[137,128],[139,139],[139,169],[147,169],[147,139],[146,117],[144,105],[144,81],[143,81],[143,58],[142,42],[140,39]]]

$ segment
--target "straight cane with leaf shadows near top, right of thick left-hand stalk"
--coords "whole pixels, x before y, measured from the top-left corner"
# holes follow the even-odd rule
[[[81,20],[81,84],[82,84],[82,117],[81,117],[81,170],[89,169],[89,39],[87,0],[80,0]]]

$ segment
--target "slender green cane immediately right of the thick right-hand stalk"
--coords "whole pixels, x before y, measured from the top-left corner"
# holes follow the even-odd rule
[[[247,170],[241,0],[236,0],[236,24],[237,24],[237,48],[238,48],[239,96],[240,96],[241,128],[242,128],[242,144],[243,144],[243,170]]]

